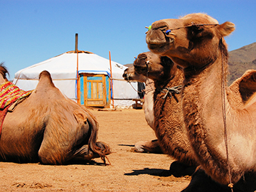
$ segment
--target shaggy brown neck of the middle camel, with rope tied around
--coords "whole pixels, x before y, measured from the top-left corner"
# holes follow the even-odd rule
[[[171,154],[184,164],[196,165],[196,159],[188,142],[186,127],[183,122],[181,93],[176,94],[163,90],[165,87],[182,85],[183,79],[183,71],[178,69],[174,78],[166,80],[165,85],[156,85],[154,92],[154,131],[166,154]]]

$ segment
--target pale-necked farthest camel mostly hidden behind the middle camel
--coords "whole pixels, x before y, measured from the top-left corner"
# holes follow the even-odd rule
[[[154,102],[153,102],[153,95],[154,95],[154,82],[153,80],[146,78],[144,75],[139,75],[135,72],[134,66],[129,67],[124,70],[124,74],[122,75],[124,80],[128,82],[136,81],[136,82],[144,82],[145,83],[145,95],[144,95],[144,104],[143,110],[145,114],[146,122],[149,124],[149,127],[154,129]],[[135,151],[139,153],[146,153],[151,152],[155,154],[163,153],[161,147],[159,146],[159,142],[157,139],[147,141],[147,142],[137,142],[134,144]]]

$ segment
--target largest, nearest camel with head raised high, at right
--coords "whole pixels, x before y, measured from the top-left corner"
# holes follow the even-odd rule
[[[155,21],[146,34],[153,53],[183,68],[182,110],[196,159],[214,181],[232,187],[255,174],[256,71],[239,80],[236,103],[226,84],[228,49],[224,37],[235,30],[207,14]]]

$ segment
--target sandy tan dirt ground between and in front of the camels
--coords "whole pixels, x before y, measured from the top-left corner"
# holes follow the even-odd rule
[[[98,141],[113,153],[111,165],[101,159],[91,164],[46,166],[0,162],[0,191],[172,191],[188,186],[189,176],[166,176],[174,159],[165,154],[139,154],[134,144],[156,139],[143,110],[98,111]]]

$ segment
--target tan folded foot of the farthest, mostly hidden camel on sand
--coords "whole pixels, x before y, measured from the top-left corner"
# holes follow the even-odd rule
[[[134,149],[138,153],[153,153],[153,154],[163,154],[159,146],[157,139],[154,139],[149,142],[137,142],[134,145]]]

